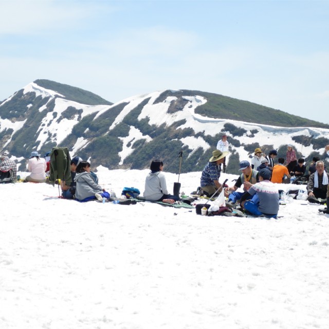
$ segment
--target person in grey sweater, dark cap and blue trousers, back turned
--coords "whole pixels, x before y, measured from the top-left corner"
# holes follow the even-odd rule
[[[267,169],[260,172],[260,181],[241,197],[241,207],[255,216],[265,215],[276,218],[279,211],[279,190],[269,178],[271,173]],[[247,201],[253,196],[251,201]]]

